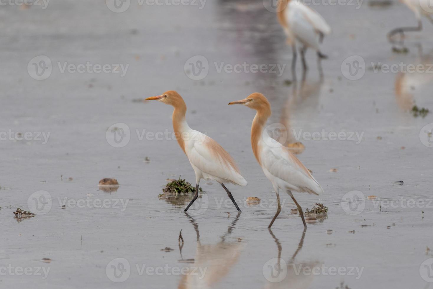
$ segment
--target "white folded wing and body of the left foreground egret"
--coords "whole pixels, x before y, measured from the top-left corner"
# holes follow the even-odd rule
[[[193,167],[200,170],[204,179],[239,186],[247,185],[236,162],[216,141],[201,132],[194,131],[190,134],[191,139],[185,141],[185,152]]]

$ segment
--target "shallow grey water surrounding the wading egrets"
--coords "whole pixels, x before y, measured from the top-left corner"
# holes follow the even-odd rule
[[[46,144],[43,138],[0,141],[0,284],[5,288],[336,288],[344,282],[352,289],[433,287],[426,281],[431,267],[423,267],[431,265],[423,262],[433,257],[426,251],[433,248],[432,148],[419,136],[433,117],[430,113],[414,118],[404,111],[411,108],[407,103],[412,99],[419,107],[433,109],[431,78],[368,69],[371,61],[432,63],[432,27],[426,21],[422,32],[408,34],[409,52],[397,54],[392,53],[386,33],[416,23],[403,4],[373,9],[365,1],[359,9],[313,8],[333,33],[322,46],[329,56],[322,61],[323,80],[309,51],[310,70],[301,86],[284,84],[292,77],[291,50],[275,13],[268,12],[262,1],[208,1],[201,10],[139,6],[132,1],[123,13],[113,13],[103,1],[52,2],[45,10],[2,6],[0,131],[50,135]],[[27,71],[30,59],[38,55],[48,56],[53,64],[45,80],[35,80]],[[184,72],[185,62],[195,55],[209,62],[203,80],[191,80]],[[342,74],[342,63],[351,55],[360,55],[367,63],[359,80]],[[58,62],[66,61],[129,67],[124,77],[61,73]],[[278,76],[218,73],[214,64],[244,61],[287,67]],[[297,68],[299,79],[299,62]],[[171,132],[172,109],[134,100],[170,89],[184,97],[190,126],[218,141],[241,167],[248,186],[228,186],[242,209],[240,215],[215,182],[202,180],[204,192],[189,215],[182,212],[189,199],[158,199],[166,179],[181,176],[193,183],[194,172],[173,139],[140,140],[143,130]],[[226,105],[255,91],[271,102],[268,123],[290,128],[287,142],[294,141],[291,129],[364,133],[358,144],[300,140],[306,149],[299,158],[325,194],[295,197],[303,209],[317,202],[329,208],[327,217],[309,223],[305,234],[301,218],[291,214],[295,208],[291,198],[283,193],[283,210],[272,230],[267,228],[276,198],[251,152],[254,112]],[[129,143],[121,148],[107,141],[112,140],[110,132],[106,136],[117,123],[130,131]],[[126,132],[125,126],[120,128],[119,133]],[[331,168],[338,171],[331,173]],[[104,177],[119,181],[117,191],[98,188]],[[393,183],[399,180],[404,184]],[[45,199],[41,199],[45,193],[32,195],[40,190],[49,195]],[[361,194],[345,195],[351,191]],[[378,198],[366,199],[370,195]],[[262,201],[249,205],[245,201],[249,196]],[[342,201],[344,196],[352,202]],[[18,206],[35,208],[33,197],[45,207],[39,206],[35,217],[14,218]],[[174,250],[161,250],[165,247]],[[275,267],[278,257],[281,267]],[[44,263],[42,258],[52,261]],[[268,265],[281,269],[281,274]],[[8,267],[12,273],[3,274],[2,268]],[[29,276],[15,271],[26,267],[33,272]],[[184,267],[197,267],[198,275],[180,274]],[[320,270],[299,273],[304,267]],[[49,269],[47,277],[36,274],[36,268],[39,273]],[[206,271],[201,274],[200,269]],[[282,280],[269,281],[275,278]]]

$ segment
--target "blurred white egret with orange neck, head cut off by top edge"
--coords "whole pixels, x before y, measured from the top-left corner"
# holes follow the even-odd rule
[[[319,43],[322,43],[324,35],[331,33],[331,28],[319,13],[305,6],[301,0],[280,0],[277,11],[278,21],[287,35],[287,43],[292,47],[293,73],[296,67],[297,45],[301,45],[304,72],[307,70],[307,63],[305,62],[307,48],[317,51],[319,59],[326,58],[326,55],[320,52]]]

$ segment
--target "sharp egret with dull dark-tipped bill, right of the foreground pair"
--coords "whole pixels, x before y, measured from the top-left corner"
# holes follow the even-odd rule
[[[275,143],[268,133],[264,131],[266,121],[271,116],[271,104],[262,93],[252,93],[246,99],[233,101],[229,104],[242,104],[257,111],[251,126],[252,152],[262,167],[265,176],[271,181],[278,200],[277,213],[268,228],[271,228],[281,212],[280,189],[291,196],[298,208],[304,226],[307,227],[302,208],[294,198],[292,191],[318,195],[323,193],[323,189],[288,148],[283,145],[277,147],[268,145]]]

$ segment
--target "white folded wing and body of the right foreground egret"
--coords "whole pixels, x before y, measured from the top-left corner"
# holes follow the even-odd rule
[[[281,189],[312,194],[323,193],[319,183],[307,168],[284,146],[272,148],[263,146],[261,153],[262,168],[272,183]]]

